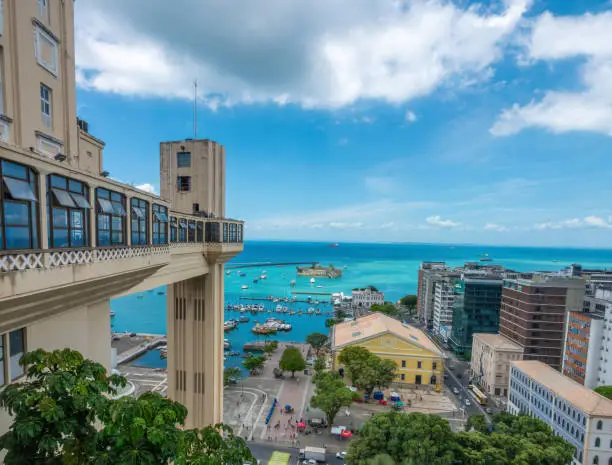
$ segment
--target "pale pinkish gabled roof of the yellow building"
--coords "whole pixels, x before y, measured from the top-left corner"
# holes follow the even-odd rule
[[[334,347],[343,347],[385,333],[442,355],[442,351],[423,331],[379,312],[335,325],[333,344]]]

